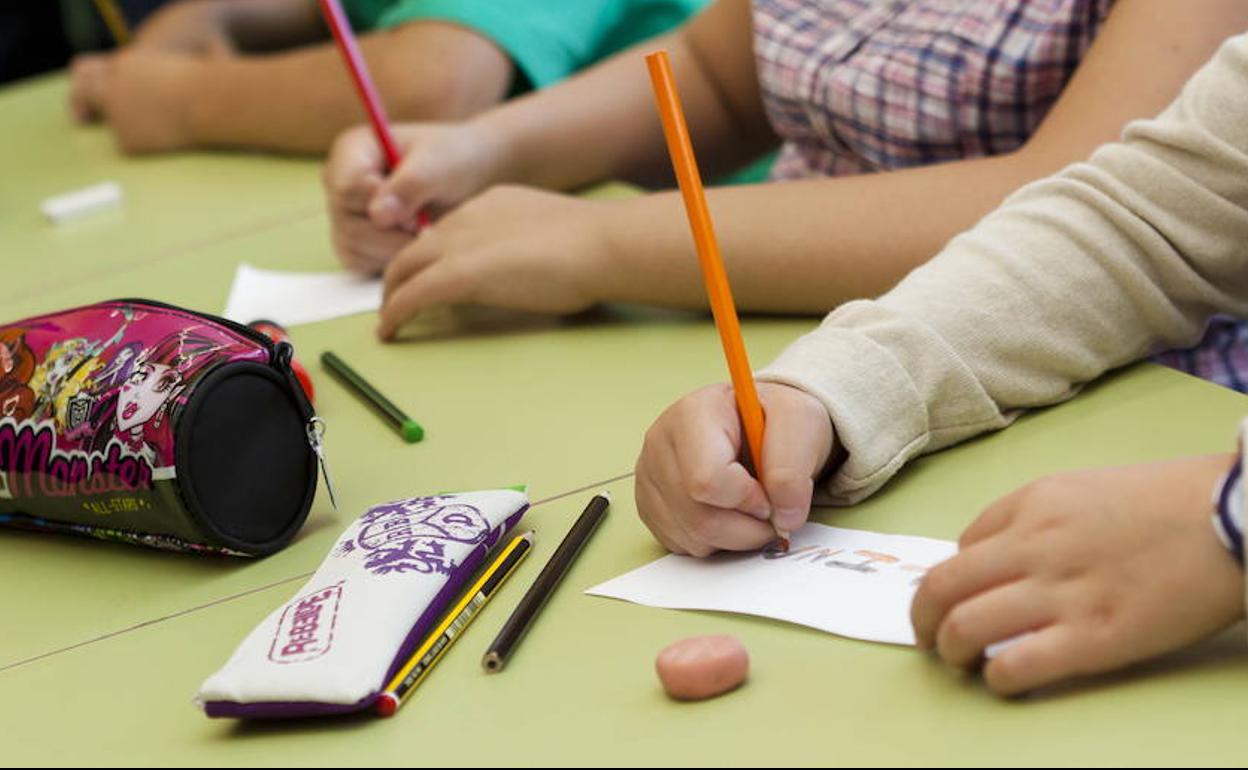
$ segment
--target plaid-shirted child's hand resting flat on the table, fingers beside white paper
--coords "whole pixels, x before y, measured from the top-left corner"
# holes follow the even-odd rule
[[[597,301],[603,268],[595,215],[605,203],[493,187],[429,227],[386,268],[377,333],[453,305],[572,313]]]

